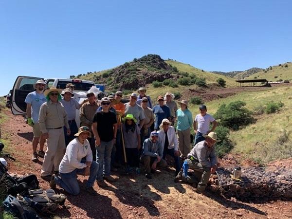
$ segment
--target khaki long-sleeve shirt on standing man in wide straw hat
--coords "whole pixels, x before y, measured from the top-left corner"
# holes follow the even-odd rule
[[[57,103],[47,101],[40,106],[38,123],[42,133],[48,132],[47,129],[60,128],[63,126],[70,129],[67,113],[59,101]]]

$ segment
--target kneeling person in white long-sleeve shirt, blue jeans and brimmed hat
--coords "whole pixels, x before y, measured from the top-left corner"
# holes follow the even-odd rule
[[[96,180],[99,164],[92,160],[92,151],[87,138],[91,137],[91,131],[88,127],[82,126],[76,136],[67,146],[66,153],[59,166],[59,176],[52,175],[50,187],[61,186],[66,192],[72,195],[80,193],[80,187],[77,182],[77,174],[89,175],[85,190],[91,195],[97,195],[93,189]],[[84,162],[82,158],[86,158]]]

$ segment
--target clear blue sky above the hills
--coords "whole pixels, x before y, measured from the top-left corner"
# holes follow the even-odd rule
[[[207,71],[292,61],[291,0],[0,0],[0,95],[158,54]]]

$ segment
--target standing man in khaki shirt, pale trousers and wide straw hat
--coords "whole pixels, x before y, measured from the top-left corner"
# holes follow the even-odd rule
[[[51,176],[53,165],[55,172],[58,172],[66,149],[63,127],[66,126],[67,135],[71,133],[66,110],[59,102],[61,92],[62,90],[54,87],[44,91],[47,102],[41,105],[39,111],[39,127],[42,137],[47,139],[47,150],[41,169],[42,178]]]

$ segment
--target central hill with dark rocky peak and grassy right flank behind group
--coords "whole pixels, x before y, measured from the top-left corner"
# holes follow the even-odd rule
[[[75,77],[72,75],[71,77]],[[95,83],[106,84],[107,90],[136,90],[139,87],[147,86],[153,81],[163,82],[165,79],[172,79],[172,88],[180,87],[178,80],[185,77],[189,86],[195,86],[196,80],[202,78],[206,83],[217,83],[221,77],[226,81],[227,86],[235,86],[231,78],[218,74],[204,72],[190,65],[173,60],[163,60],[159,55],[145,55],[141,58],[134,58],[131,62],[101,72],[79,74],[80,79],[92,80]],[[167,85],[166,85],[167,86]],[[167,86],[168,87],[168,86]],[[171,89],[172,89],[171,88]],[[167,90],[170,88],[168,87]],[[176,89],[175,89],[176,90]]]

